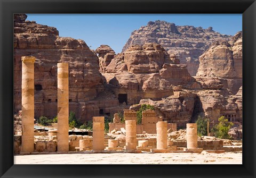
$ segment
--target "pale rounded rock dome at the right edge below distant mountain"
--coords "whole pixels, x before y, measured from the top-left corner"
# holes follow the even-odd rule
[[[219,80],[236,94],[242,86],[242,32],[229,41],[218,41],[199,57],[197,80]]]

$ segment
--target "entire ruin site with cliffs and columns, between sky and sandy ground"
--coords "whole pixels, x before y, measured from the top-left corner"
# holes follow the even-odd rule
[[[242,31],[150,21],[116,54],[26,18],[14,14],[17,159],[242,155]],[[221,123],[226,135],[218,134]]]

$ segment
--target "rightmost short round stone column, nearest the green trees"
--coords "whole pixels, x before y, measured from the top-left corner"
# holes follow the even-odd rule
[[[197,124],[187,124],[187,148],[197,148]]]

